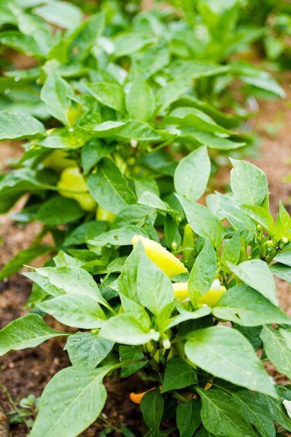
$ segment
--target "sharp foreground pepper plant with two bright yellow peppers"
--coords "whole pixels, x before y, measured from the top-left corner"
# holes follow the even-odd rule
[[[87,249],[60,252],[50,267],[25,274],[35,283],[35,309],[1,330],[1,355],[66,336],[72,363],[45,387],[29,436],[80,434],[102,411],[103,378],[117,369],[121,378],[140,376],[135,392],[152,381],[140,402],[147,435],[177,428],[180,436],[271,437],[275,423],[291,431],[282,403],[291,391],[274,385],[263,366],[270,361],[291,376],[291,318],[274,282],[291,282],[291,218],[282,204],[275,221],[269,213],[262,170],[231,161],[232,193],[196,202],[209,178],[193,181],[207,167],[200,147],[177,166],[171,205],[144,193],[119,221],[144,203],[147,219],[90,236]],[[153,223],[174,253],[158,244]],[[77,237],[76,230],[69,237],[72,248]],[[107,265],[104,252],[114,254]],[[38,310],[82,330],[56,331]]]

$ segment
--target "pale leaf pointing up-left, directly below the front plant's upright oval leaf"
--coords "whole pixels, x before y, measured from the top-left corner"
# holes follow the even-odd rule
[[[205,239],[209,238],[211,243],[219,250],[223,242],[224,229],[218,218],[207,207],[199,203],[192,202],[180,195],[177,195],[177,198],[181,202],[188,223],[194,232]]]

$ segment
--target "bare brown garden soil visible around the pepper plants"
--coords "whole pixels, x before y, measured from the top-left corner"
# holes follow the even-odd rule
[[[291,174],[291,75],[283,76],[286,92],[285,101],[262,101],[260,113],[255,119],[254,129],[260,134],[260,154],[257,159],[251,159],[267,174],[269,191],[271,192],[271,212],[278,212],[278,200],[282,199],[285,207],[291,212],[291,183],[283,183],[284,177]],[[21,156],[20,145],[7,142],[1,144],[0,170],[7,168],[8,158]],[[229,170],[223,169],[218,174],[221,186],[229,183]],[[30,223],[24,227],[15,225],[8,217],[0,217],[0,267],[20,249],[24,249],[33,241],[40,230],[38,223]],[[0,283],[0,329],[11,320],[23,316],[24,304],[29,297],[31,283],[21,274],[15,274]],[[278,281],[278,298],[282,308],[291,316],[291,286],[283,281]],[[55,329],[65,329],[52,318],[46,318],[49,325]],[[17,402],[28,394],[37,397],[52,378],[54,373],[69,365],[67,353],[64,352],[62,339],[51,339],[38,346],[9,353],[0,358],[0,384],[7,387],[11,397]],[[278,374],[271,366],[268,371],[278,383],[288,383],[284,376]],[[118,376],[106,381],[108,391],[107,403],[103,419],[109,420],[114,427],[128,427],[135,436],[142,436],[141,418],[139,408],[130,403],[128,394],[131,391],[143,391],[147,388],[133,377],[121,380]],[[6,413],[12,410],[6,394],[0,390],[0,406]],[[100,431],[107,425],[104,420],[98,420],[82,437],[100,436]],[[10,425],[10,437],[27,436],[27,427],[24,424]],[[290,435],[291,434],[286,434]],[[120,436],[117,431],[112,431],[110,436]],[[174,434],[173,434],[174,436]],[[65,437],[65,436],[64,436]]]

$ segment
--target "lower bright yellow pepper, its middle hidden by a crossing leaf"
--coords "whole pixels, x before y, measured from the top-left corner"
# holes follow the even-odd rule
[[[173,283],[174,288],[174,297],[175,299],[179,299],[184,301],[185,299],[190,299],[188,292],[188,282],[177,282]],[[226,292],[226,288],[221,286],[221,283],[218,279],[215,279],[211,285],[211,288],[207,293],[197,299],[196,304],[201,305],[205,304],[207,306],[214,306],[216,302],[221,298],[222,295]]]

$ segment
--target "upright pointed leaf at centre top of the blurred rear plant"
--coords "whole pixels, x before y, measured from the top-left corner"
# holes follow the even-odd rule
[[[140,121],[147,121],[155,110],[154,92],[135,72],[133,83],[126,94],[126,109],[130,117]]]

